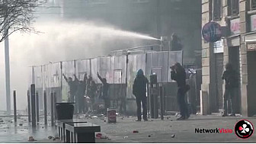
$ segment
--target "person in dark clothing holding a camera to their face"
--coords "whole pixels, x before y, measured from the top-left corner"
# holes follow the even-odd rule
[[[174,66],[171,66],[171,79],[176,81],[178,84],[178,104],[181,110],[181,117],[177,120],[185,120],[190,115],[187,110],[187,103],[185,101],[186,94],[186,72],[185,69],[181,66],[179,62],[175,63]]]

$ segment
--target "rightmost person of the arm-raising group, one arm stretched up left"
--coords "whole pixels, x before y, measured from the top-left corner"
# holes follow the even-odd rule
[[[97,72],[98,78],[100,78],[102,82],[102,98],[104,99],[105,113],[107,114],[107,108],[110,107],[110,96],[109,96],[109,88],[110,85],[107,83],[106,78],[101,78],[101,75]]]

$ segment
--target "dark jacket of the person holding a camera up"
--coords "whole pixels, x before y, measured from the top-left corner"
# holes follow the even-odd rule
[[[171,71],[171,79],[177,82],[178,88],[184,88],[186,85],[186,72]]]

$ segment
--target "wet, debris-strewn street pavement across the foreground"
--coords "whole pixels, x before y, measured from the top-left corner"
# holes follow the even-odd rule
[[[224,128],[234,130],[235,123],[243,117],[220,117],[218,114],[209,116],[192,115],[189,120],[177,121],[175,116],[167,116],[165,120],[149,119],[149,121],[136,122],[136,117],[117,117],[117,123],[107,123],[101,117],[80,118],[101,126],[104,139],[96,142],[256,142],[255,133],[249,139],[239,139],[235,133],[195,133],[195,129]],[[58,139],[48,139],[56,136],[56,129],[43,123],[40,117],[35,130],[27,123],[27,117],[18,117],[17,126],[13,117],[1,117],[0,142],[29,142],[33,136],[34,142],[61,142]],[[0,120],[1,120],[0,119]],[[256,118],[245,118],[255,125]],[[50,117],[49,119],[50,120]],[[133,133],[138,131],[138,133]]]

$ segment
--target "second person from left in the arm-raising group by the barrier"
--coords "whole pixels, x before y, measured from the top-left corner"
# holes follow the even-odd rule
[[[79,114],[85,113],[85,89],[86,89],[86,82],[87,82],[87,74],[85,73],[84,80],[79,81],[78,83],[78,90],[75,94],[75,112]]]

